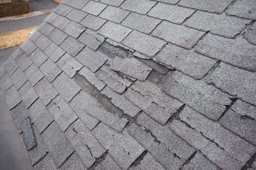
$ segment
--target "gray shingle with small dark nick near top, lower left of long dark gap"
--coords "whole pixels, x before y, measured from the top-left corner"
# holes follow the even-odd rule
[[[67,128],[78,118],[76,113],[60,95],[56,96],[52,102],[47,105],[47,109],[52,114],[62,132],[67,130]]]

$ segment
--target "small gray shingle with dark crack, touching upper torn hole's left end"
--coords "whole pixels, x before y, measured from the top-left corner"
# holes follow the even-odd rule
[[[105,41],[105,37],[87,28],[83,34],[78,38],[80,42],[96,51],[100,45]]]

